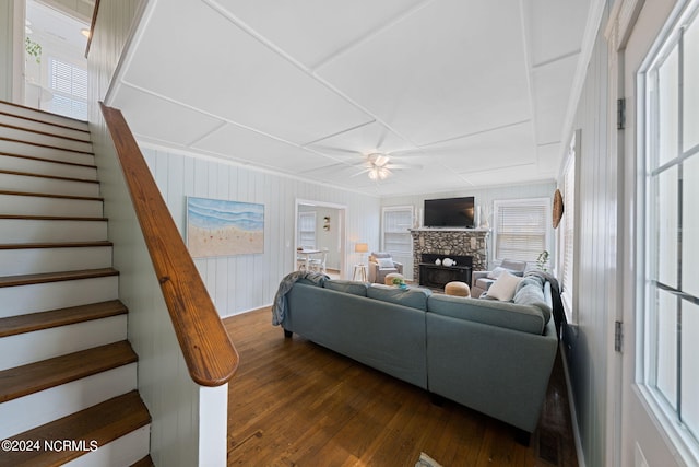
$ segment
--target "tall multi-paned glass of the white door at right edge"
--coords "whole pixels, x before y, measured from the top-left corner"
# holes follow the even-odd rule
[[[699,21],[685,12],[641,75],[640,385],[672,437],[699,452]],[[645,394],[645,393],[644,393]]]

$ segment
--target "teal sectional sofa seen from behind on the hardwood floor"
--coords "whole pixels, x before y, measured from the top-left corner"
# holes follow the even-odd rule
[[[513,302],[306,279],[284,295],[276,316],[285,336],[296,332],[521,430],[536,429],[558,349],[550,285],[542,278],[522,280]]]

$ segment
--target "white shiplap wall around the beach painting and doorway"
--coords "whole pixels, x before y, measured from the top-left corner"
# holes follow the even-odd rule
[[[271,304],[282,278],[295,269],[297,199],[347,207],[346,252],[354,252],[358,241],[378,247],[379,198],[193,153],[146,144],[142,151],[182,236],[188,196],[264,205],[264,253],[194,260],[221,316]],[[352,276],[350,268],[357,260],[354,256],[347,258],[343,277]]]

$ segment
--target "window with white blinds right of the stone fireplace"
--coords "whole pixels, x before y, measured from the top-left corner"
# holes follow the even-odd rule
[[[496,200],[493,207],[493,258],[496,261],[519,259],[534,262],[542,252],[548,250],[548,198]]]

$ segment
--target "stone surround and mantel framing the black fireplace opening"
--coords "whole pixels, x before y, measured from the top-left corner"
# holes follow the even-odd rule
[[[423,254],[439,256],[471,256],[473,270],[487,269],[488,229],[420,227],[411,230],[413,236],[413,278],[419,283],[419,262]]]

